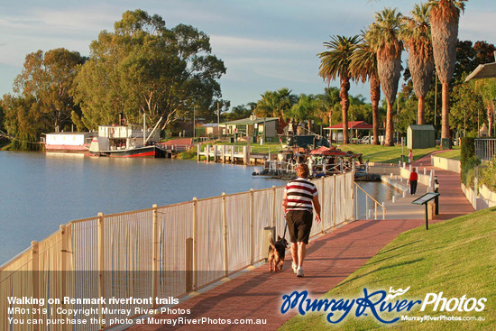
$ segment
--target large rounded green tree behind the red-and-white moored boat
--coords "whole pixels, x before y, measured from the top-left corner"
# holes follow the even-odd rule
[[[100,32],[90,51],[74,89],[90,128],[114,123],[122,111],[129,123],[144,113],[163,129],[192,117],[195,108],[212,109],[221,97],[224,62],[211,55],[207,34],[192,26],[167,29],[157,14],[128,11],[115,32]]]

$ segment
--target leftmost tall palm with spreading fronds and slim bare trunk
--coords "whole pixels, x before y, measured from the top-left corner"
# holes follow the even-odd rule
[[[350,100],[348,98],[348,91],[350,90],[350,79],[353,79],[350,73],[350,58],[358,41],[358,36],[333,36],[331,37],[331,41],[324,42],[324,46],[329,51],[318,54],[320,57],[318,74],[328,83],[337,76],[341,80],[339,97],[341,97],[343,111],[343,143],[350,143],[348,133],[348,107],[350,106]]]

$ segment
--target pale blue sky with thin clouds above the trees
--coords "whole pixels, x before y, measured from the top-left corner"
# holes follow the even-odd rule
[[[317,53],[333,35],[353,36],[376,12],[397,7],[409,14],[415,1],[389,0],[18,0],[0,3],[0,96],[13,93],[14,78],[33,51],[65,48],[89,55],[98,33],[114,31],[126,10],[159,14],[169,28],[179,23],[210,36],[212,53],[224,60],[220,79],[231,106],[256,102],[268,90],[318,94],[327,83],[318,76]],[[496,43],[494,0],[470,0],[460,19],[459,39]],[[406,67],[407,55],[403,56]],[[339,87],[339,81],[330,86]],[[350,93],[369,97],[367,83]]]

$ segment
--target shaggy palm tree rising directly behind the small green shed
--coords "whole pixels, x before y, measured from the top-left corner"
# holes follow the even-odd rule
[[[400,33],[400,38],[409,50],[411,80],[415,95],[418,97],[417,124],[424,124],[424,98],[427,95],[434,72],[429,6],[416,4],[411,14],[413,17],[405,17],[405,26]]]

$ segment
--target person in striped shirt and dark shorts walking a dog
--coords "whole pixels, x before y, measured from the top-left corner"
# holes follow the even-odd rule
[[[320,203],[317,187],[307,179],[308,165],[299,164],[296,174],[298,178],[290,180],[284,189],[282,209],[288,222],[293,258],[292,268],[298,277],[303,277],[303,260],[307,253],[308,238],[312,228],[313,209],[315,208],[316,221],[319,224]]]

